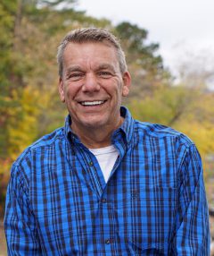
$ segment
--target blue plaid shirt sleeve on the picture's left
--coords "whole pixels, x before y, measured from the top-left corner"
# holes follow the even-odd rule
[[[7,188],[4,230],[8,255],[42,255],[27,189],[18,166],[12,167]]]

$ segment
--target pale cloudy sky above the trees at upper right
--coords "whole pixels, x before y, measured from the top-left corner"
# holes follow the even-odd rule
[[[78,0],[76,9],[148,30],[149,42],[160,44],[164,64],[175,75],[190,59],[214,71],[214,0]]]

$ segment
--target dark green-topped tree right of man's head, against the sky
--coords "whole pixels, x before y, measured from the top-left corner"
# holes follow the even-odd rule
[[[133,77],[131,98],[144,98],[160,84],[169,83],[169,73],[157,53],[159,44],[146,43],[147,30],[129,22],[119,23],[115,30],[125,49],[128,69]]]

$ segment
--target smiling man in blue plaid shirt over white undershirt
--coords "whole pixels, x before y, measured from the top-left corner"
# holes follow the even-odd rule
[[[118,40],[71,31],[58,64],[69,115],[12,166],[9,255],[210,255],[201,158],[121,107],[131,79]]]

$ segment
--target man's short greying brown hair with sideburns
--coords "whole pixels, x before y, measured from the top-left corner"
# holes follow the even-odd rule
[[[87,43],[87,42],[103,42],[109,43],[115,48],[118,55],[119,69],[121,73],[125,73],[128,70],[126,57],[122,50],[119,39],[116,38],[110,31],[98,28],[83,28],[78,30],[71,30],[63,39],[58,47],[57,63],[59,68],[59,75],[62,77],[63,72],[63,52],[65,47],[69,43]]]

